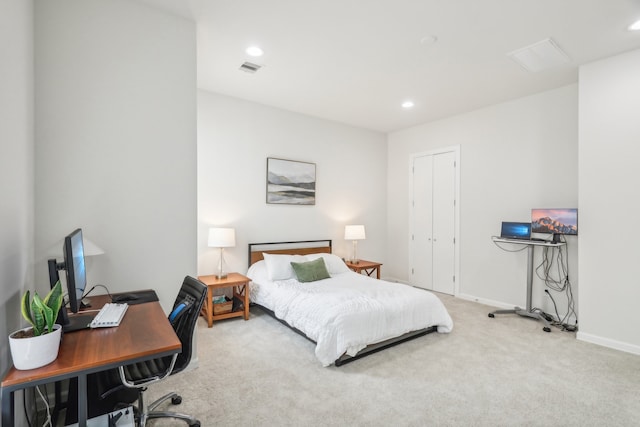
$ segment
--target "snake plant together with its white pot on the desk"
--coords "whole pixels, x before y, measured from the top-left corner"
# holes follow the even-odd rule
[[[35,369],[53,362],[58,357],[62,326],[54,324],[62,306],[60,281],[42,299],[34,292],[22,296],[22,316],[31,324],[9,335],[9,347],[16,369]]]

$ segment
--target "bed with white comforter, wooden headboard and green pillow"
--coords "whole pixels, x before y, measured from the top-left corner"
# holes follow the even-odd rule
[[[313,341],[323,366],[453,328],[437,296],[351,271],[331,240],[250,243],[249,266],[252,305]]]

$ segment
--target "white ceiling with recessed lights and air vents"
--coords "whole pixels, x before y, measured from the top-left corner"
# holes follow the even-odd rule
[[[581,64],[640,48],[640,0],[140,1],[195,20],[200,89],[380,132],[575,83]],[[547,38],[567,63],[529,72],[507,56]]]

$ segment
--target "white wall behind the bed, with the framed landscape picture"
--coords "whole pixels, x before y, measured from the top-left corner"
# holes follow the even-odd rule
[[[385,156],[384,134],[200,91],[199,274],[213,274],[218,259],[207,247],[211,226],[236,229],[236,247],[225,251],[230,271],[246,272],[250,242],[330,238],[347,256],[344,226],[354,223],[367,233],[359,257],[384,262]],[[315,163],[316,204],[266,204],[267,157]]]

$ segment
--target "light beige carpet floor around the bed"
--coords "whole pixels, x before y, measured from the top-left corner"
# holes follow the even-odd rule
[[[249,321],[198,323],[198,366],[151,386],[177,390],[203,426],[631,426],[640,356],[492,307],[439,295],[454,321],[341,367],[256,307]],[[154,421],[153,425],[176,425]]]

